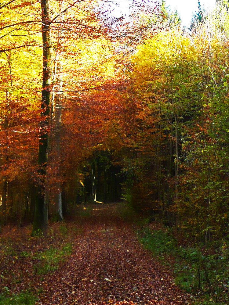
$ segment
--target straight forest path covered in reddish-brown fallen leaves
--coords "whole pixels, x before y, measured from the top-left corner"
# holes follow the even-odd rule
[[[133,224],[118,216],[123,213],[120,204],[93,204],[79,210],[76,231],[71,232],[72,255],[45,278],[38,304],[188,303],[169,271],[140,245]]]

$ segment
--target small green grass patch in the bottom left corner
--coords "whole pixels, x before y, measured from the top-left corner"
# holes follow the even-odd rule
[[[0,305],[34,305],[37,298],[30,292],[20,294],[0,295]]]

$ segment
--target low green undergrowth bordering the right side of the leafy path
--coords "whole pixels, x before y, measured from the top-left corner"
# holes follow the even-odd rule
[[[229,303],[229,242],[224,241],[210,255],[206,247],[203,253],[199,245],[179,246],[169,230],[151,230],[145,225],[137,234],[154,257],[163,264],[172,264],[175,283],[195,295],[194,304]]]

